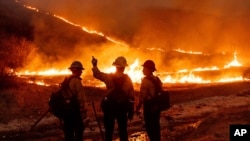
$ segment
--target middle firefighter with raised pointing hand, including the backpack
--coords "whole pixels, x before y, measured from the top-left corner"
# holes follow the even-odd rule
[[[115,73],[101,72],[97,67],[97,59],[94,57],[92,57],[92,65],[93,76],[104,82],[107,88],[107,93],[101,102],[104,113],[105,141],[113,140],[115,120],[119,127],[120,141],[128,141],[127,121],[132,120],[134,114],[134,88],[131,78],[124,74],[125,67],[128,66],[127,60],[123,56],[115,59],[112,64],[116,67]],[[126,103],[118,100],[124,96],[128,99]]]

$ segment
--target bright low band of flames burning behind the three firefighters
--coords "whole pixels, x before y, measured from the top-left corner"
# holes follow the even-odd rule
[[[234,60],[231,61],[229,64],[232,64],[232,62],[235,62]],[[229,64],[225,66],[229,66]],[[106,67],[102,69],[106,73],[113,73],[115,72],[115,67]],[[235,77],[226,77],[226,78],[220,78],[215,81],[206,80],[202,77],[195,75],[195,72],[205,72],[205,71],[219,71],[220,69],[216,66],[210,67],[210,68],[195,68],[192,70],[179,70],[177,72],[159,72],[156,75],[160,77],[160,79],[163,81],[163,83],[213,83],[213,82],[232,82],[232,81],[242,81],[242,76],[235,76]],[[128,66],[125,69],[125,73],[127,73],[130,78],[132,79],[133,83],[140,83],[141,79],[143,78],[142,74],[142,67],[140,65],[139,59],[136,59],[130,66]],[[68,69],[65,70],[58,70],[58,69],[49,69],[44,71],[24,71],[24,72],[18,72],[18,76],[22,75],[39,75],[39,76],[55,76],[55,75],[68,75],[71,74],[71,72]],[[35,82],[33,82],[35,83]],[[40,85],[44,84],[42,82],[39,82]],[[103,86],[103,85],[102,85]]]

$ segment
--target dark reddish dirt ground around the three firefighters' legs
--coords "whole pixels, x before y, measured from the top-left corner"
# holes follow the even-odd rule
[[[230,124],[250,124],[250,82],[186,86],[166,86],[171,92],[172,107],[162,112],[162,140],[168,141],[229,141]],[[138,96],[138,86],[136,97]],[[25,84],[0,91],[0,140],[59,141],[63,133],[59,121],[48,109],[48,99],[56,86]],[[93,112],[102,123],[99,102],[104,89],[85,87],[88,118],[85,140],[99,141],[101,131]],[[33,128],[36,121],[45,115]],[[129,122],[130,140],[146,141],[143,116],[135,115]],[[115,130],[114,140],[117,130]]]

